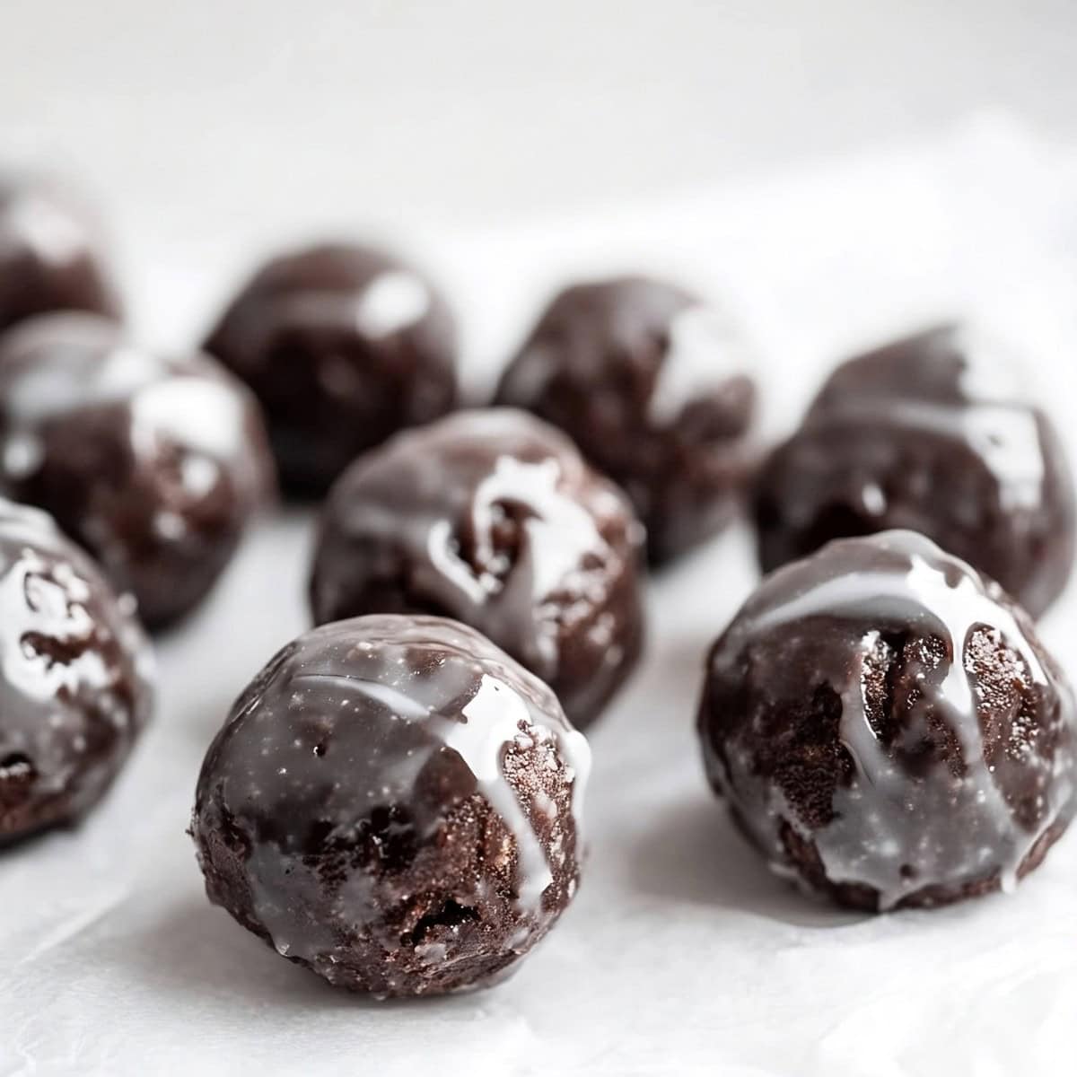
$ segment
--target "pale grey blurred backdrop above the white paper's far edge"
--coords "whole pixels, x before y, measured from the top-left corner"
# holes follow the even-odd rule
[[[1072,0],[0,0],[0,157],[214,227],[265,197],[505,220],[984,107],[1077,134],[1075,45]]]

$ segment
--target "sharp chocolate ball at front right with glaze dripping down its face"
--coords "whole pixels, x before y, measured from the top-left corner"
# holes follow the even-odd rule
[[[1074,699],[1029,616],[910,531],[764,579],[707,663],[707,772],[771,867],[868,910],[1010,891],[1073,817]]]

